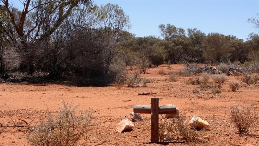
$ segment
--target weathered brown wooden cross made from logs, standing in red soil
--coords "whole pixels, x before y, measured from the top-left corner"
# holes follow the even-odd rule
[[[158,106],[158,100],[158,97],[152,97],[151,106],[133,106],[134,113],[151,114],[151,143],[158,143],[158,114],[176,114],[176,106]]]

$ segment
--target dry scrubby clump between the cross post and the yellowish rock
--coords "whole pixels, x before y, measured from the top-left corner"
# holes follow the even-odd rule
[[[185,113],[175,116],[175,118],[162,119],[159,122],[159,138],[163,140],[185,140],[185,142],[193,142],[204,130],[196,131],[194,126],[189,126]]]

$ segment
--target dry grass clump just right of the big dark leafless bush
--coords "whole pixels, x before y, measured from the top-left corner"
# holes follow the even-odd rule
[[[149,82],[149,80],[139,77],[139,72],[134,72],[131,75],[128,75],[125,80],[125,84],[128,85],[128,87],[146,87],[146,84]]]

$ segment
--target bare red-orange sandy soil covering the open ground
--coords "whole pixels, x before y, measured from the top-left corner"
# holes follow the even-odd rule
[[[259,123],[251,127],[244,135],[239,135],[234,124],[226,115],[226,111],[234,102],[259,104],[259,85],[248,85],[232,92],[228,82],[237,80],[236,76],[228,76],[223,84],[223,92],[212,94],[210,90],[205,94],[193,94],[192,88],[198,85],[187,84],[189,78],[177,77],[176,82],[166,82],[168,75],[159,75],[158,71],[177,72],[183,65],[167,65],[158,68],[148,68],[149,74],[141,75],[152,81],[144,88],[121,87],[75,87],[58,84],[0,84],[0,123],[13,125],[24,124],[23,119],[36,125],[40,122],[44,111],[57,110],[62,100],[66,103],[79,105],[85,112],[93,108],[94,121],[97,127],[89,132],[87,143],[84,145],[159,145],[150,144],[150,114],[142,114],[143,121],[133,122],[134,131],[116,133],[116,125],[124,118],[129,118],[133,105],[150,105],[151,97],[159,97],[159,105],[174,104],[180,112],[185,111],[187,119],[198,115],[210,123],[209,131],[199,137],[202,142],[183,143],[164,142],[161,145],[259,145]],[[212,80],[211,80],[212,82]],[[138,93],[150,92],[141,96]],[[130,100],[130,101],[127,101]],[[258,108],[257,108],[258,110]],[[19,123],[20,122],[20,123]],[[99,129],[100,131],[98,131]],[[218,132],[220,134],[216,134]],[[28,146],[27,128],[0,127],[0,146]]]

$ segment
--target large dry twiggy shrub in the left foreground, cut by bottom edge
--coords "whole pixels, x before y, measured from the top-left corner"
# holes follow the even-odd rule
[[[62,107],[57,115],[47,112],[47,120],[42,120],[39,125],[30,131],[28,138],[33,145],[40,146],[77,146],[79,141],[87,136],[91,128],[92,109],[87,114],[79,111],[78,106],[73,107],[62,101]]]

